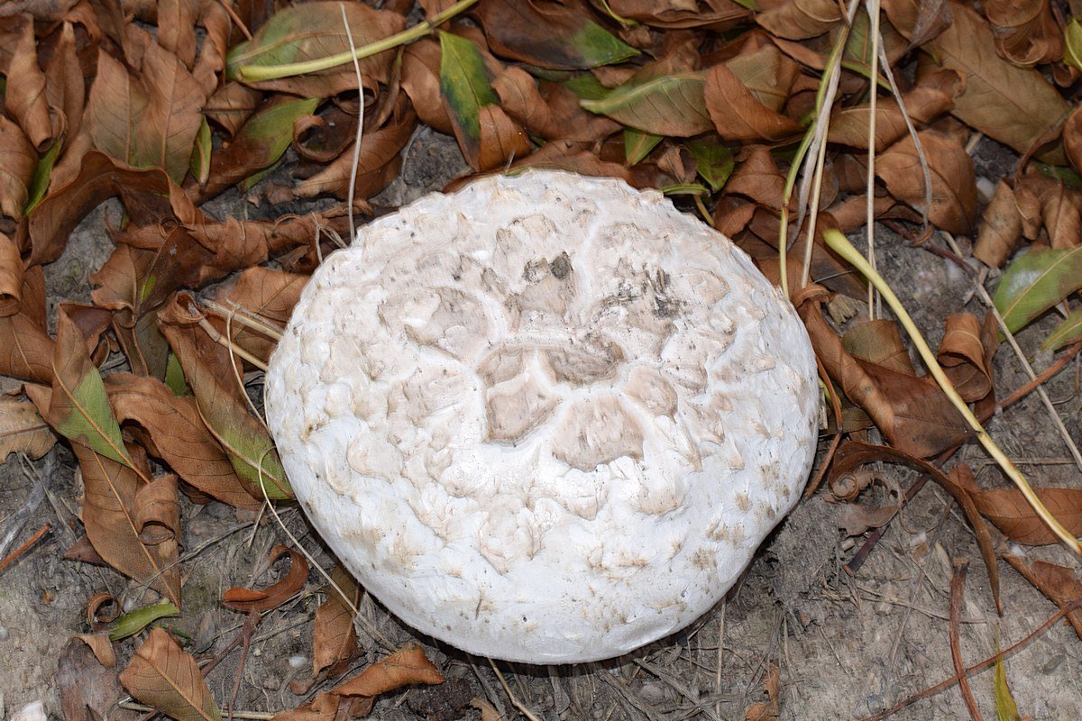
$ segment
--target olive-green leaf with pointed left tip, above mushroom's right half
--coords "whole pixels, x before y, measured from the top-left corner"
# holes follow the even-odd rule
[[[707,112],[704,84],[701,72],[676,72],[643,81],[632,78],[604,98],[579,104],[623,125],[688,137],[714,129]]]

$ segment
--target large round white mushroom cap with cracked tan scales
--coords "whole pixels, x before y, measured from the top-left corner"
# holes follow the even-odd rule
[[[818,384],[793,308],[661,193],[532,170],[316,270],[266,374],[313,525],[417,630],[617,656],[723,598],[791,510]]]

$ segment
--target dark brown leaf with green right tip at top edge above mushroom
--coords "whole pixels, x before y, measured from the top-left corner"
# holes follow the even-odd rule
[[[639,54],[575,4],[489,0],[473,14],[493,52],[537,67],[582,70]]]

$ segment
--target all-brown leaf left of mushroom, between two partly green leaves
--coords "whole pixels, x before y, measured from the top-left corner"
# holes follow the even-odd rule
[[[200,492],[236,508],[262,503],[237,477],[228,456],[207,429],[192,397],[179,397],[157,378],[114,373],[105,379],[109,401],[120,423],[131,429],[147,452],[161,458]]]

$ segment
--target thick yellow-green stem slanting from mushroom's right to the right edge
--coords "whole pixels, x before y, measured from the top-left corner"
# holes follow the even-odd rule
[[[928,344],[924,341],[921,332],[916,329],[916,324],[913,323],[913,319],[910,318],[908,312],[906,312],[906,308],[901,305],[901,301],[898,299],[898,296],[894,294],[890,285],[887,284],[883,277],[871,267],[867,258],[865,258],[865,256],[862,256],[860,252],[853,246],[853,243],[850,243],[841,232],[833,229],[827,230],[823,233],[823,240],[831,250],[841,255],[849,263],[849,265],[863,273],[863,276],[875,286],[875,290],[880,292],[880,295],[884,301],[886,301],[886,304],[890,306],[895,316],[898,317],[898,321],[901,323],[902,328],[906,329],[906,333],[908,333],[909,337],[912,338],[913,345],[916,346],[916,350],[920,352],[924,363],[928,366],[928,371],[932,373],[933,377],[935,377],[939,387],[942,388],[947,398],[949,398],[951,403],[954,404],[954,408],[956,408],[962,416],[965,417],[966,423],[969,424],[969,427],[977,436],[977,440],[985,446],[988,455],[995,459],[1000,468],[1003,469],[1003,472],[1006,473],[1007,478],[1010,478],[1015,486],[1017,486],[1017,489],[1021,492],[1026,502],[1030,505],[1030,508],[1032,508],[1038,517],[1044,521],[1048,529],[1051,529],[1052,532],[1056,534],[1056,536],[1063,540],[1069,549],[1074,551],[1078,556],[1082,556],[1082,544],[1079,543],[1079,539],[1076,538],[1070,531],[1065,529],[1063,524],[1056,520],[1056,517],[1053,516],[1047,508],[1045,508],[1041,498],[1038,497],[1037,493],[1033,491],[1033,486],[1031,486],[1029,481],[1026,480],[1026,476],[1018,470],[1018,467],[1015,466],[1003,450],[997,445],[995,441],[993,441],[992,437],[988,435],[987,430],[985,430],[985,427],[980,424],[977,416],[974,415],[973,411],[969,410],[969,406],[966,405],[964,400],[962,400],[962,397],[958,395],[958,391],[954,389],[954,385],[950,382],[950,378],[947,377],[947,374],[944,373],[942,368],[940,368],[938,361],[936,361],[935,353],[932,352]]]

